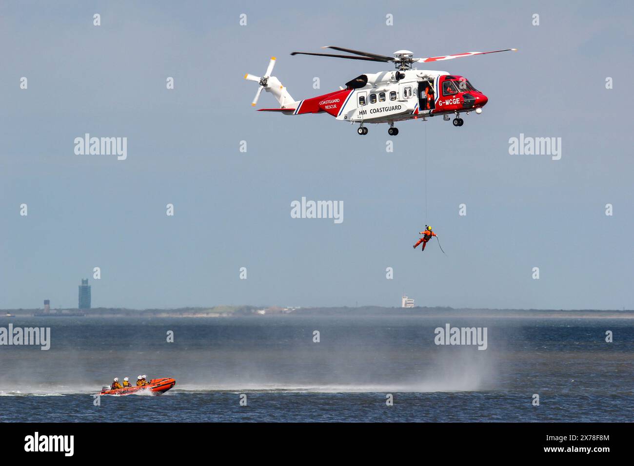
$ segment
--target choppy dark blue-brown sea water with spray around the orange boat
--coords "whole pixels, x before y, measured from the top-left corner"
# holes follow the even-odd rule
[[[49,351],[0,346],[3,422],[634,420],[631,318],[2,318],[0,327],[10,322],[51,327],[52,341]],[[488,349],[436,346],[434,328],[446,323],[487,327]],[[112,377],[139,373],[177,384],[93,405]]]

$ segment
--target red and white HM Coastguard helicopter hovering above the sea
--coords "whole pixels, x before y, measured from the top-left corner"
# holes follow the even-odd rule
[[[337,55],[332,53],[292,52],[290,55],[314,55],[348,60],[378,61],[393,63],[394,71],[365,73],[346,82],[346,87],[339,87],[338,91],[323,94],[304,100],[295,100],[288,93],[280,80],[271,76],[276,58],[271,57],[266,72],[261,77],[245,74],[248,81],[259,84],[256,97],[251,105],[256,106],[257,100],[265,90],[276,98],[280,108],[260,108],[259,112],[278,112],[283,115],[304,115],[306,113],[328,113],[337,120],[359,124],[357,133],[361,136],[368,134],[366,124],[386,123],[389,125],[387,133],[396,136],[399,131],[395,122],[404,120],[427,120],[427,117],[443,115],[448,121],[454,115],[453,126],[464,124],[461,113],[469,115],[482,113],[482,107],[488,98],[481,91],[461,75],[449,74],[446,71],[418,70],[413,68],[415,63],[431,63],[434,61],[453,60],[472,55],[487,55],[517,49],[503,49],[489,52],[467,52],[456,55],[431,56],[414,58],[409,50],[398,50],[392,55],[378,55],[376,53],[347,49],[336,46],[322,48],[346,52],[351,55]]]

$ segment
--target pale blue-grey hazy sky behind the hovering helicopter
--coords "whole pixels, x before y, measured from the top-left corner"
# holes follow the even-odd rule
[[[632,309],[633,12],[626,1],[3,2],[0,308],[76,307],[89,278],[93,307],[399,306],[405,293],[418,306]],[[519,51],[427,67],[488,96],[462,127],[433,118],[361,137],[330,115],[251,107],[257,85],[243,75],[264,74],[270,56],[298,100],[391,69],[290,56],[326,45]],[[258,108],[276,106],[262,94]],[[126,160],[76,155],[85,133],[126,137]],[[520,134],[561,138],[561,159],[510,155]],[[302,197],[343,202],[344,221],[292,218]],[[425,224],[446,255],[412,249]]]

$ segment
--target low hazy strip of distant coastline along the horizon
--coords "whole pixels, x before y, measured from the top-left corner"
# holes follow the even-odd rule
[[[186,317],[221,318],[237,316],[463,316],[463,317],[530,317],[530,318],[634,318],[632,310],[600,309],[472,309],[453,307],[279,307],[279,306],[213,306],[179,307],[175,309],[127,309],[94,307],[93,309],[0,309],[0,317]]]

